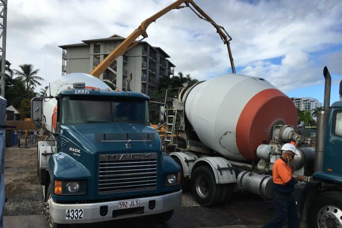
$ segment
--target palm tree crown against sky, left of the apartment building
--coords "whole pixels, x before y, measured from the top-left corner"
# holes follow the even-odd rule
[[[32,64],[21,64],[19,65],[21,71],[14,70],[14,74],[18,77],[16,79],[22,80],[26,83],[26,89],[29,90],[30,86],[37,87],[37,85],[42,85],[39,81],[43,81],[44,79],[36,76],[40,69],[33,70]]]

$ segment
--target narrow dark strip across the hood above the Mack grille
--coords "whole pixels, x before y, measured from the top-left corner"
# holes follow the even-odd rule
[[[153,141],[154,133],[95,133],[96,142]]]

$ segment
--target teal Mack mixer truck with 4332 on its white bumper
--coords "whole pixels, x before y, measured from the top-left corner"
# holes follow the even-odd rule
[[[180,167],[149,125],[149,97],[101,89],[107,85],[79,75],[52,84],[55,96],[32,100],[32,121],[51,137],[37,147],[50,226],[144,215],[169,220],[181,205]]]

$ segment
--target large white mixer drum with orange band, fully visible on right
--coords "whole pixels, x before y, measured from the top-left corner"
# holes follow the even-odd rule
[[[235,161],[257,159],[274,124],[297,126],[297,109],[268,81],[228,74],[197,83],[182,96],[185,115],[200,141]]]

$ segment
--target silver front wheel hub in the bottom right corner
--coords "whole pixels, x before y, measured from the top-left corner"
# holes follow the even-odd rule
[[[317,224],[319,228],[342,228],[342,210],[331,205],[322,207],[318,212]]]

